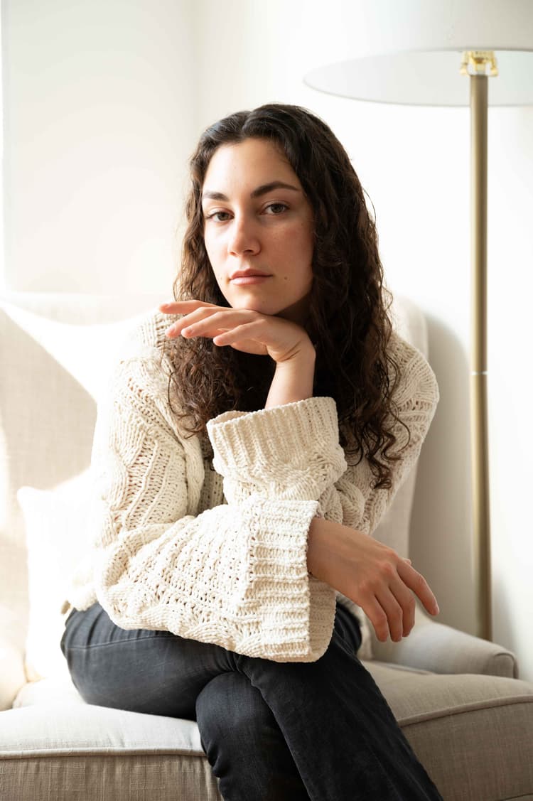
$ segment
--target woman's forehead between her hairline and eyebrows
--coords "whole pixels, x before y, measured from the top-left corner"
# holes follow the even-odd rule
[[[224,186],[244,184],[253,188],[273,179],[291,179],[300,185],[293,167],[278,147],[266,139],[250,138],[217,148],[205,173],[204,187],[215,190],[224,183]]]

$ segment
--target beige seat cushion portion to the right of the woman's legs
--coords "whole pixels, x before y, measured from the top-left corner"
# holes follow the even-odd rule
[[[533,799],[533,685],[369,662],[446,801]]]

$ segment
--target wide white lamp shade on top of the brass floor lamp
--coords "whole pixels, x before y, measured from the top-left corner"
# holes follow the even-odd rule
[[[491,105],[533,105],[533,0],[345,2],[333,17],[337,58],[309,70],[309,87],[377,103],[468,106],[462,52],[493,50],[499,75],[489,83]],[[363,24],[365,48],[374,52],[361,55],[360,46],[350,52],[346,31]]]

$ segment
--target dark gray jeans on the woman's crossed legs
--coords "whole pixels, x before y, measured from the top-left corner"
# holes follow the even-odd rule
[[[123,630],[99,604],[67,618],[61,649],[87,703],[196,720],[226,801],[441,799],[337,604],[316,662],[273,662],[168,631]]]

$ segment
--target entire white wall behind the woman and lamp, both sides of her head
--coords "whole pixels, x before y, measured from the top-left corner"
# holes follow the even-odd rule
[[[157,286],[168,294],[185,159],[200,131],[269,101],[321,115],[374,202],[388,285],[428,316],[441,402],[419,467],[418,501],[429,500],[418,505],[411,555],[438,596],[442,622],[474,632],[468,111],[355,103],[305,87],[305,71],[337,54],[330,30],[339,7],[340,0],[7,2],[6,284]],[[374,4],[351,7],[341,38],[353,40],[354,53],[365,52],[376,30],[390,44],[396,29],[390,20],[380,25]],[[533,680],[533,108],[491,109],[489,130],[494,638]]]

